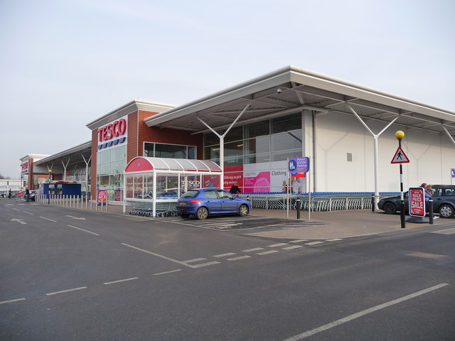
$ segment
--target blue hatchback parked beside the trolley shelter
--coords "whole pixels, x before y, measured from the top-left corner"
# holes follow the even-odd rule
[[[177,210],[183,218],[195,215],[198,220],[225,213],[245,217],[250,213],[251,203],[220,188],[198,188],[181,195],[177,201]]]

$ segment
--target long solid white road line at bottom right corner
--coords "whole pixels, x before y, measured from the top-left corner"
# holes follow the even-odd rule
[[[306,337],[309,337],[311,335],[315,335],[315,334],[317,334],[319,332],[323,332],[324,330],[331,329],[333,327],[336,327],[337,325],[341,325],[343,323],[347,323],[350,320],[355,320],[356,318],[360,318],[360,317],[362,317],[364,315],[373,313],[373,312],[375,312],[377,310],[384,309],[384,308],[390,307],[391,305],[395,305],[395,304],[398,304],[398,303],[402,303],[404,301],[410,300],[411,298],[415,298],[417,296],[424,295],[425,293],[429,293],[431,291],[435,291],[435,290],[437,290],[439,288],[443,288],[444,286],[448,286],[448,285],[449,285],[448,283],[441,283],[441,284],[438,284],[437,286],[432,286],[431,288],[427,288],[427,289],[424,289],[424,290],[421,290],[421,291],[417,291],[416,293],[411,293],[410,295],[403,296],[402,298],[397,298],[396,300],[389,301],[387,303],[382,303],[380,305],[375,305],[373,308],[368,308],[368,309],[362,310],[362,311],[360,311],[358,313],[355,313],[353,315],[346,316],[346,318],[341,318],[340,320],[336,320],[336,321],[333,321],[331,323],[327,323],[326,325],[321,325],[321,327],[314,328],[314,329],[309,330],[307,332],[302,332],[301,334],[295,335],[293,337],[289,337],[289,339],[286,339],[284,341],[299,341],[299,340],[303,340]]]

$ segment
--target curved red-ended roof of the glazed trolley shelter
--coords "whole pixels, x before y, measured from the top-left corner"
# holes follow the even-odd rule
[[[166,171],[222,173],[220,166],[208,160],[188,160],[186,158],[147,158],[138,156],[129,161],[125,173]]]

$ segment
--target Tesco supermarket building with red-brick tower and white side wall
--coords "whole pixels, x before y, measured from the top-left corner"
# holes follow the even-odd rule
[[[237,182],[245,193],[276,193],[286,190],[288,158],[307,156],[309,176],[291,184],[295,193],[378,195],[400,190],[390,163],[398,130],[410,158],[405,188],[451,183],[455,168],[455,112],[294,66],[178,107],[137,99],[87,127],[91,141],[21,158],[28,188],[51,171],[54,180],[80,181],[93,196],[107,189],[111,202],[122,202],[127,163],[144,156],[214,161],[225,188]],[[175,182],[162,178],[156,190]]]

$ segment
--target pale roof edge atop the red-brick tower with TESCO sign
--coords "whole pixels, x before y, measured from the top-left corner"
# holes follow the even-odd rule
[[[104,124],[107,124],[109,121],[113,121],[114,119],[124,117],[125,115],[135,112],[136,110],[163,112],[164,110],[172,109],[173,107],[175,107],[175,105],[173,104],[152,102],[147,99],[137,98],[133,99],[127,104],[122,105],[122,107],[118,107],[117,109],[112,110],[112,112],[108,112],[102,117],[95,119],[95,121],[91,121],[85,126],[87,126],[87,128],[90,130],[94,130],[99,128],[100,126],[103,126]]]

